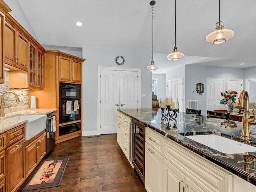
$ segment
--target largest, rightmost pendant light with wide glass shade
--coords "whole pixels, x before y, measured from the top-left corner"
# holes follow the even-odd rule
[[[218,24],[218,26],[217,26]],[[230,29],[223,29],[224,24],[220,21],[220,0],[219,0],[219,22],[216,23],[216,31],[211,32],[206,36],[206,41],[214,44],[224,43],[234,36],[234,31]]]

